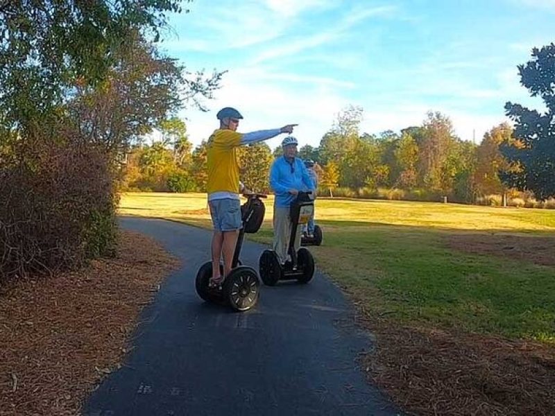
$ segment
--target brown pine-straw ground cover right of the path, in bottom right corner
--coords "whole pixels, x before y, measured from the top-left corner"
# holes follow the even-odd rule
[[[368,377],[417,415],[554,415],[555,348],[363,318]]]

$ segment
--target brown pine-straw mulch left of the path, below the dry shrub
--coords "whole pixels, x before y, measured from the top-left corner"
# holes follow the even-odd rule
[[[117,257],[0,286],[0,415],[75,415],[121,366],[140,310],[178,261],[121,232]]]

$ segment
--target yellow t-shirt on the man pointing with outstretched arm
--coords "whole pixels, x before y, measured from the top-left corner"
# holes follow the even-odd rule
[[[237,147],[241,133],[214,130],[207,142],[208,193],[228,191],[239,193],[239,159]]]

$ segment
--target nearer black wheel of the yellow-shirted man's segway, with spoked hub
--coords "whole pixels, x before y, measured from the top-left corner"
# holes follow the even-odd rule
[[[236,311],[252,309],[258,302],[259,293],[258,274],[252,267],[236,267],[225,278],[223,296]]]

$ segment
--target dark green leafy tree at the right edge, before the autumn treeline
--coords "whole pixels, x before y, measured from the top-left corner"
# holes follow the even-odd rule
[[[532,59],[518,66],[520,83],[531,96],[542,98],[547,111],[540,114],[520,104],[506,103],[506,114],[515,122],[513,144],[501,153],[513,166],[502,174],[509,187],[533,191],[538,199],[555,196],[555,44],[532,50]]]

